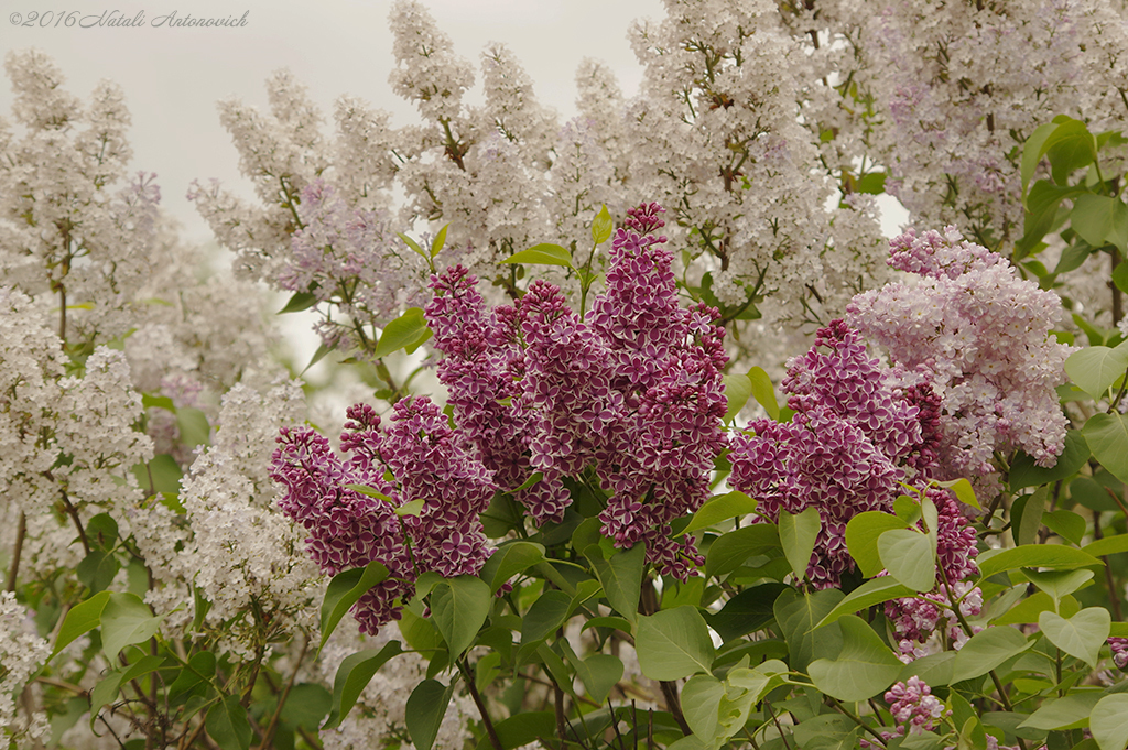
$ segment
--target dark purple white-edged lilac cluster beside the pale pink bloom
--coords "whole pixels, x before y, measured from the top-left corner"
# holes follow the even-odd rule
[[[838,585],[854,562],[846,524],[863,511],[890,511],[906,467],[931,468],[933,412],[927,388],[905,392],[890,368],[871,359],[857,330],[835,320],[816,345],[787,363],[783,389],[791,423],[756,420],[735,439],[729,483],[759,501],[776,521],[781,510],[817,506],[822,529],[808,577]]]

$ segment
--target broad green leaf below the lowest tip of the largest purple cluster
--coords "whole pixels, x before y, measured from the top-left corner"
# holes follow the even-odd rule
[[[640,616],[635,648],[642,673],[652,680],[680,680],[713,664],[713,639],[696,607]]]

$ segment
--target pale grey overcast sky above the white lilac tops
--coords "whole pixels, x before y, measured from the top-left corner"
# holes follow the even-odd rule
[[[67,88],[82,97],[103,78],[125,91],[133,114],[133,168],[157,173],[162,203],[184,224],[191,240],[210,239],[206,224],[185,200],[188,183],[218,177],[228,185],[249,183],[238,173],[238,155],[220,126],[215,102],[239,97],[263,108],[263,82],[289,68],[305,82],[332,124],[333,102],[342,94],[359,96],[393,113],[396,124],[417,121],[414,108],[391,92],[388,73],[391,34],[390,0],[77,0],[82,16],[120,11],[140,27],[54,26],[65,3],[0,0],[0,51],[38,47],[52,55],[67,76]],[[635,18],[664,16],[660,0],[424,0],[456,51],[479,69],[478,56],[490,42],[503,42],[522,61],[537,96],[561,114],[574,112],[576,67],[598,58],[619,76],[628,96],[637,89],[642,69],[626,41]],[[156,19],[243,17],[239,28],[153,27]],[[17,18],[16,15],[19,15]],[[38,14],[36,24],[26,27]],[[108,18],[108,15],[107,15]],[[475,92],[475,98],[479,97]],[[0,113],[11,111],[11,89],[0,86]]]

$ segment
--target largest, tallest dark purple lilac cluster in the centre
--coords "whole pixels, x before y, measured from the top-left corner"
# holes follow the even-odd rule
[[[559,521],[572,502],[563,480],[594,467],[611,493],[603,533],[618,547],[645,544],[661,572],[685,580],[703,561],[669,524],[708,497],[728,356],[716,310],[678,307],[660,213],[655,203],[628,212],[607,290],[583,319],[540,281],[487,312],[460,267],[432,279],[426,315],[459,434],[499,486],[539,471],[517,498],[536,523]]]

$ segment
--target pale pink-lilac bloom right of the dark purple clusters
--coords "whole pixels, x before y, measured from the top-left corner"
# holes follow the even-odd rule
[[[1052,466],[1067,426],[1054,388],[1070,350],[1049,336],[1060,299],[952,227],[909,230],[890,247],[890,265],[919,283],[858,294],[847,320],[889,351],[906,386],[940,396],[938,478],[979,477],[995,494],[994,451],[1014,448]]]

